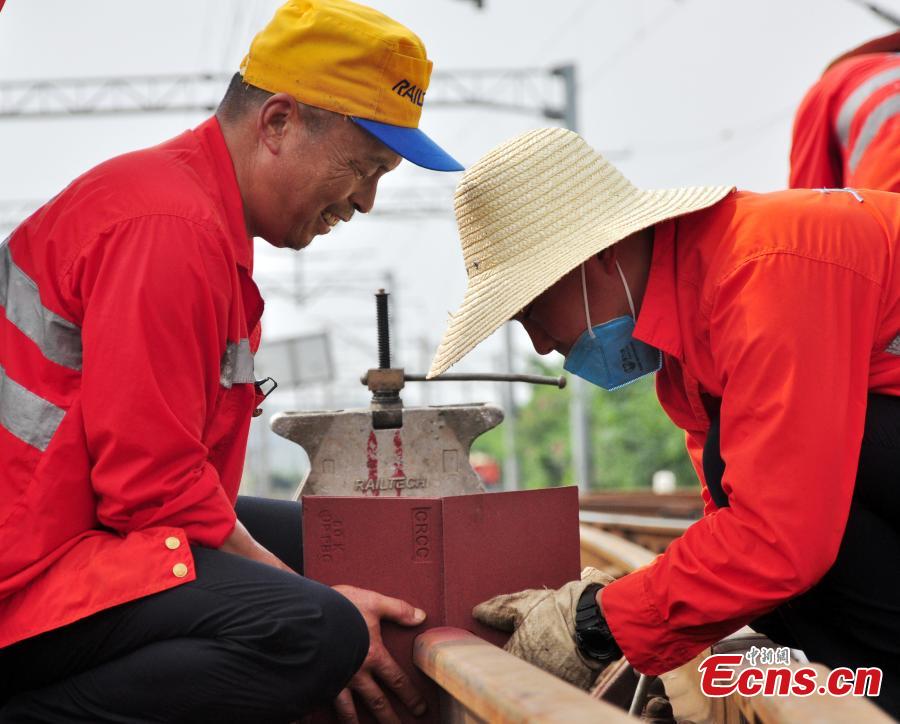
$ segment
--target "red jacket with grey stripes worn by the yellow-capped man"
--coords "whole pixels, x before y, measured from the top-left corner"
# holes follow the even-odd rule
[[[262,299],[218,122],[0,246],[0,647],[194,579],[231,533]]]

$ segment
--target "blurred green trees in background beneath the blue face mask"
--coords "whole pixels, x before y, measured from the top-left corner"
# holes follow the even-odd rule
[[[534,361],[537,374],[558,375],[561,366]],[[666,417],[647,377],[615,392],[589,388],[592,477],[590,487],[648,487],[657,470],[672,470],[679,485],[695,486],[696,476],[684,448],[684,434]],[[519,409],[516,449],[519,486],[571,485],[569,388],[535,387]],[[502,424],[475,441],[474,450],[506,457]]]

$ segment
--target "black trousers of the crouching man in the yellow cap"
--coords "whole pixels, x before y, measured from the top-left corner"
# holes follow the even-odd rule
[[[251,534],[302,572],[300,504],[241,498]],[[0,722],[288,722],[365,658],[357,609],[322,584],[192,547],[196,580],[0,650]]]

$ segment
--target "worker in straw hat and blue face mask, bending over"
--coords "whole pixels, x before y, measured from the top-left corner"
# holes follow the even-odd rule
[[[555,128],[471,167],[456,214],[468,287],[429,375],[510,319],[604,389],[655,373],[705,501],[645,568],[476,615],[582,682],[622,654],[669,671],[752,623],[880,667],[900,714],[900,196],[645,191]]]

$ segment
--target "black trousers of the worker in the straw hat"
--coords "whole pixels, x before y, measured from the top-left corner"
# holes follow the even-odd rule
[[[719,421],[703,451],[713,500],[728,498],[721,481]],[[837,559],[806,593],[752,622],[775,643],[803,649],[832,669],[878,666],[873,701],[900,718],[900,398],[870,395],[850,517]]]

